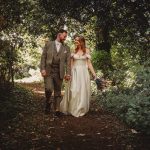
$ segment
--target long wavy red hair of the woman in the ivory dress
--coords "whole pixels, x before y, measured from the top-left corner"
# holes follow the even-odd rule
[[[79,38],[79,43],[81,44],[81,49],[83,50],[83,55],[86,53],[86,43],[83,36],[75,36],[74,39]],[[75,48],[75,53],[78,52],[78,47]]]

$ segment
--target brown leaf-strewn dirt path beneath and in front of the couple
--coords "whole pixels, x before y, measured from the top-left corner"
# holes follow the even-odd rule
[[[100,108],[94,97],[83,117],[52,119],[44,114],[41,84],[22,84],[34,92],[22,101],[24,111],[1,121],[0,150],[150,150],[150,137],[130,129],[115,115]]]

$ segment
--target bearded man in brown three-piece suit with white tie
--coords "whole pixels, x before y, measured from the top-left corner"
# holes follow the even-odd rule
[[[48,41],[43,48],[40,70],[44,77],[46,105],[45,113],[49,114],[53,105],[56,116],[60,116],[61,86],[63,78],[70,80],[70,48],[64,44],[67,37],[66,30],[59,30],[55,41]],[[54,99],[51,95],[54,91]]]

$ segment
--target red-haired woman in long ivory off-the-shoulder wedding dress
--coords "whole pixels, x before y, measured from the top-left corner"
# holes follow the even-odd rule
[[[67,82],[60,110],[65,114],[80,117],[89,111],[91,93],[88,69],[94,78],[96,78],[96,73],[83,36],[75,37],[75,46],[75,52],[71,55],[72,78]]]

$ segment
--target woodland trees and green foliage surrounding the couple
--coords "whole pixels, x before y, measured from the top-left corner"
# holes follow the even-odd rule
[[[100,100],[129,125],[148,130],[149,68],[148,64],[139,65],[150,56],[148,0],[0,3],[0,87],[2,82],[28,76],[30,68],[38,67],[38,36],[54,39],[56,31],[67,25],[71,37],[83,34],[89,49],[96,45],[99,51],[92,51],[94,68],[103,70],[115,85]]]

